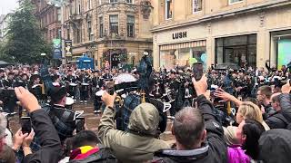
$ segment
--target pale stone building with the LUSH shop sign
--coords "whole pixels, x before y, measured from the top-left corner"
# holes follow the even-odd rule
[[[289,0],[153,1],[156,69],[235,62],[240,66],[280,67],[291,62]]]

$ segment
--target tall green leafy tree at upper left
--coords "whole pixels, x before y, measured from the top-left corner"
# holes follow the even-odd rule
[[[19,1],[19,8],[11,14],[7,37],[0,59],[7,62],[38,63],[41,53],[50,57],[52,44],[47,43],[35,17],[30,0]]]

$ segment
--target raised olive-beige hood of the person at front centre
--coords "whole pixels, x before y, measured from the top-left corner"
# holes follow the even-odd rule
[[[140,134],[156,136],[159,113],[150,103],[142,103],[135,107],[130,115],[128,129]]]

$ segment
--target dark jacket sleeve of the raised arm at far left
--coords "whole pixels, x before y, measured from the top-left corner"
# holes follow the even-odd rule
[[[27,155],[22,162],[57,163],[62,157],[61,141],[45,110],[35,110],[30,114],[35,136],[39,138],[41,149]]]

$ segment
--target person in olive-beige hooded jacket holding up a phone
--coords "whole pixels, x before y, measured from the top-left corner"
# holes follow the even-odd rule
[[[115,129],[115,96],[105,92],[102,97],[106,108],[100,120],[98,136],[105,147],[113,149],[118,160],[145,162],[153,158],[156,150],[169,148],[165,141],[156,139],[159,112],[150,103],[142,103],[132,111],[128,131]]]

